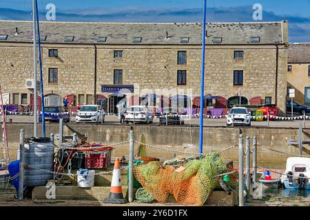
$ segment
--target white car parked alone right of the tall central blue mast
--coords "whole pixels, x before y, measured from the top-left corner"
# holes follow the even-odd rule
[[[234,107],[228,112],[227,126],[239,124],[251,126],[251,115],[247,108]]]

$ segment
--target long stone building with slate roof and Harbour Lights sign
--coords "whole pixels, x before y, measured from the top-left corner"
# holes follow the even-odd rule
[[[201,23],[40,25],[45,98],[107,98],[112,112],[122,88],[138,97],[161,90],[200,96]],[[32,41],[31,22],[0,21],[1,85],[11,104],[32,102],[33,89],[25,87],[33,78]],[[206,42],[205,94],[220,96],[219,107],[238,102],[240,92],[242,104],[259,100],[285,113],[287,21],[207,23]]]

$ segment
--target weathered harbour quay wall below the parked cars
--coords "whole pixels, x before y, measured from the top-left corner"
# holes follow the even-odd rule
[[[19,147],[19,132],[25,129],[25,137],[32,137],[33,124],[7,124],[9,147]],[[41,133],[41,127],[39,127]],[[72,133],[86,134],[88,141],[102,144],[116,144],[128,140],[130,126],[128,125],[94,125],[94,124],[69,124],[63,127],[63,135],[72,135]],[[50,133],[59,133],[59,124],[46,125],[47,136]],[[284,153],[276,153],[258,146],[258,165],[268,166],[269,164],[282,164],[285,166],[287,157],[291,154],[298,154],[299,150],[296,146],[289,146],[288,141],[298,141],[298,129],[293,128],[262,128],[262,127],[214,127],[205,126],[203,129],[203,153],[210,151],[223,151],[229,146],[238,144],[238,137],[242,133],[244,137],[249,135],[251,145],[254,135],[258,138],[258,143],[267,148]],[[154,126],[154,125],[134,125],[134,138],[141,142],[145,140],[147,156],[163,157],[172,159],[178,155],[189,155],[182,153],[174,153],[169,150],[182,151],[185,153],[198,153],[199,149],[199,127],[189,126]],[[302,140],[310,139],[310,129],[303,129]],[[141,151],[138,143],[134,144],[135,154]],[[157,148],[156,148],[157,147]],[[166,150],[161,150],[165,148]],[[16,153],[11,152],[12,156]],[[129,143],[121,144],[115,147],[112,156],[129,155]],[[238,162],[238,146],[231,148],[229,151],[221,153],[225,159],[232,159]],[[310,155],[309,148],[304,146],[304,155]],[[284,165],[283,165],[284,164]],[[277,168],[281,168],[278,167]],[[285,168],[285,167],[282,167]]]

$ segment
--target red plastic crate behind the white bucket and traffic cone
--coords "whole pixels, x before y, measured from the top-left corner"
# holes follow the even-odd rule
[[[86,153],[85,166],[86,168],[107,168],[111,164],[111,151],[106,153]]]

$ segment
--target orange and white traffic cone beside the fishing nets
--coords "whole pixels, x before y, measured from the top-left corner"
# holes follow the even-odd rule
[[[114,163],[114,170],[113,170],[113,176],[112,176],[112,182],[111,182],[111,188],[110,188],[110,195],[108,198],[104,199],[103,203],[127,203],[127,199],[123,197],[123,191],[121,186],[121,170],[120,170],[120,164],[119,159],[115,159]]]

